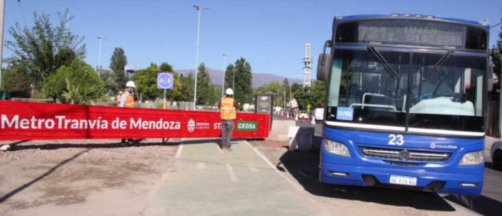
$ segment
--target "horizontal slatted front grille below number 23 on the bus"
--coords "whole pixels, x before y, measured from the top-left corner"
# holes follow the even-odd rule
[[[395,159],[402,161],[423,161],[423,162],[442,162],[450,158],[449,152],[417,151],[410,149],[392,149],[380,147],[360,146],[359,150],[366,157],[375,157],[383,159]]]

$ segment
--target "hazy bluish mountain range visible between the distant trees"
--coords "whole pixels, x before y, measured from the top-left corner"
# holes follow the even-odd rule
[[[221,85],[223,84],[223,71],[222,70],[216,70],[212,68],[206,67],[207,71],[209,72],[209,77],[211,78],[211,82],[215,85]],[[181,74],[188,75],[189,73],[193,72],[192,70],[188,69],[179,69],[176,70],[176,72],[179,72]],[[290,84],[293,83],[303,83],[303,80],[301,79],[294,79],[290,77],[285,77],[285,76],[278,76],[275,74],[270,74],[270,73],[253,73],[253,88],[258,88],[264,84],[267,84],[269,82],[277,81],[279,83],[282,83],[284,79],[288,79],[288,82]]]

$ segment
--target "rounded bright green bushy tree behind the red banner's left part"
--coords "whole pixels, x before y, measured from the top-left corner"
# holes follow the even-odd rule
[[[104,83],[92,66],[81,60],[74,60],[69,66],[63,65],[49,76],[42,88],[44,94],[63,103],[88,103],[103,95]],[[66,92],[66,93],[65,93]],[[68,93],[72,92],[72,93]],[[70,95],[71,97],[68,97]],[[75,95],[81,99],[75,99]]]

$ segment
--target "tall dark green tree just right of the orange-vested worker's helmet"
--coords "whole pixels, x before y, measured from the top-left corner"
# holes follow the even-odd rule
[[[233,74],[232,74],[233,75]],[[253,101],[253,74],[251,65],[242,57],[235,61],[235,89],[234,98],[239,103]]]

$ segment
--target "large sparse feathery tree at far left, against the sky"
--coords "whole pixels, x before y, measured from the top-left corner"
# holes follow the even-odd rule
[[[34,12],[31,29],[22,28],[19,23],[9,29],[13,40],[6,41],[6,47],[13,54],[7,62],[24,65],[36,86],[40,86],[62,65],[85,57],[84,37],[74,35],[66,28],[66,23],[73,19],[68,13],[68,9],[58,13],[59,23],[55,27],[48,14]]]

